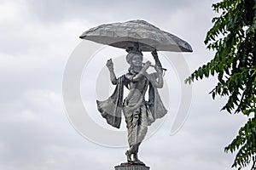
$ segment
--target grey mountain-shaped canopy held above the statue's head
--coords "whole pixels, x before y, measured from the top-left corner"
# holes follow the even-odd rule
[[[104,24],[85,31],[80,38],[116,48],[139,47],[142,51],[192,52],[188,42],[161,31],[144,20]]]

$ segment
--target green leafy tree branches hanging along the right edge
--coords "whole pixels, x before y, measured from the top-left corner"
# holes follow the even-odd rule
[[[256,169],[256,0],[223,0],[212,8],[220,15],[212,19],[205,44],[215,51],[215,56],[185,82],[218,77],[210,92],[212,99],[216,95],[226,96],[228,100],[222,110],[248,118],[224,150],[237,150],[232,167],[241,169],[253,163],[252,169]]]

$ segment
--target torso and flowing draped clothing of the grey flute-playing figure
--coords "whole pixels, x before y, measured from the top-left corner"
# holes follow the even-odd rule
[[[104,101],[96,101],[98,111],[113,127],[120,127],[121,114],[124,113],[130,147],[140,144],[147,133],[148,125],[165,116],[167,112],[152,82],[157,80],[157,73],[148,77],[142,76],[135,82],[132,77],[136,74],[129,72],[119,77],[113,94]],[[125,99],[124,87],[129,89]],[[147,89],[148,102],[144,99]]]

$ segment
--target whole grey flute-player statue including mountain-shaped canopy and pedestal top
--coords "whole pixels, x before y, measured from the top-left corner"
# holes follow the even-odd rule
[[[96,26],[84,31],[80,38],[115,48],[124,48],[128,53],[126,61],[130,64],[130,68],[121,77],[115,76],[112,59],[108,59],[106,65],[115,89],[108,99],[97,100],[96,103],[98,111],[113,127],[119,128],[121,114],[125,115],[129,143],[129,149],[125,152],[127,161],[130,163],[129,165],[143,165],[141,167],[148,170],[149,167],[146,167],[138,159],[138,148],[145,138],[148,126],[155,119],[161,118],[167,113],[158,93],[158,88],[162,88],[164,85],[163,70],[165,69],[160,64],[157,50],[192,52],[191,46],[179,37],[161,31],[144,20]],[[155,65],[151,65],[149,61],[143,64],[142,52],[145,51],[152,52]],[[147,72],[149,66],[154,67],[154,73]],[[124,88],[129,89],[127,96],[124,96]],[[145,99],[147,92],[148,100]],[[121,165],[115,169],[126,168]]]

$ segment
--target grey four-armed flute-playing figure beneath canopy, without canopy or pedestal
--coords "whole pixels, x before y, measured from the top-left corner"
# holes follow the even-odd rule
[[[166,108],[163,105],[158,88],[162,88],[163,68],[160,64],[158,54],[154,50],[151,54],[154,57],[155,65],[149,61],[143,63],[143,53],[139,48],[126,49],[126,61],[130,64],[128,72],[116,77],[113,71],[112,59],[108,59],[107,67],[110,79],[115,90],[113,94],[104,101],[96,101],[98,111],[107,120],[108,124],[119,128],[121,113],[125,115],[125,122],[128,131],[129,150],[125,152],[128,162],[143,164],[138,159],[138,148],[148,131],[148,126],[155,119],[166,115]],[[154,73],[148,74],[149,66],[154,66]],[[129,94],[124,97],[124,87],[129,89]],[[148,91],[148,101],[145,94]]]

